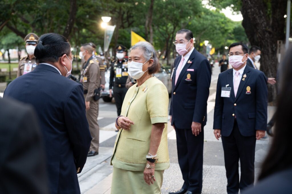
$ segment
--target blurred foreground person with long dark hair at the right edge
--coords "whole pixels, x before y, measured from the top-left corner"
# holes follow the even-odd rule
[[[287,194],[292,191],[292,47],[282,62],[281,84],[275,113],[274,139],[265,158],[258,183],[245,194]]]

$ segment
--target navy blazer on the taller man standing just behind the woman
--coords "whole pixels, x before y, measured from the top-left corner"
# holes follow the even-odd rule
[[[194,49],[174,85],[180,60],[181,55],[174,61],[169,111],[172,116],[171,125],[174,124],[178,129],[191,129],[192,122],[202,123],[204,126],[207,121],[211,66],[206,57]]]

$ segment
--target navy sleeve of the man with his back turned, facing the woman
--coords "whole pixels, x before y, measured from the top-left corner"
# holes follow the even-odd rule
[[[76,169],[81,172],[91,143],[91,134],[86,119],[83,87],[78,84],[72,90],[64,109],[65,124],[73,148]]]

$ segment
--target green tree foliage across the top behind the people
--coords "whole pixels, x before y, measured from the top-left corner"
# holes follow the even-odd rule
[[[217,0],[212,1],[215,3]],[[29,32],[38,35],[48,32],[65,34],[72,16],[72,2],[74,0],[2,0],[0,6],[5,9],[0,13],[0,38],[5,38],[6,32],[14,32],[22,38]],[[116,25],[110,47],[114,48],[119,43],[130,48],[131,30],[149,40],[149,26],[146,28],[145,24],[152,14],[153,44],[167,59],[174,57],[171,55],[175,52],[172,42],[175,32],[182,28],[193,31],[196,47],[199,47],[200,42],[208,40],[216,50],[223,52],[231,41],[246,41],[237,22],[226,18],[218,10],[204,8],[201,0],[154,0],[152,12],[149,10],[150,4],[151,0],[76,1],[74,25],[67,38],[76,49],[86,42],[93,42],[103,48],[101,17],[110,16],[112,20],[109,25]]]

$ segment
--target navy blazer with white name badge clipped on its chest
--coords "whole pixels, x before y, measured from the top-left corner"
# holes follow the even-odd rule
[[[243,76],[246,75],[243,81]],[[213,129],[221,129],[223,136],[229,136],[236,115],[239,131],[243,136],[253,136],[256,130],[267,130],[267,85],[265,74],[246,65],[235,98],[233,69],[219,74],[216,90]],[[221,97],[221,88],[231,87],[231,96]],[[247,92],[248,86],[250,93]]]

